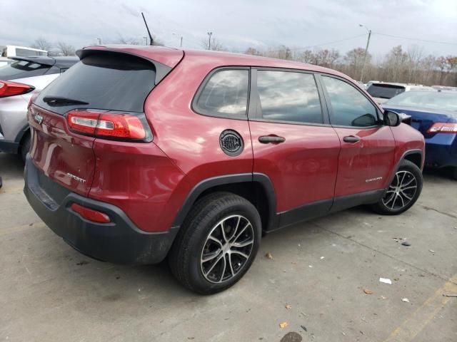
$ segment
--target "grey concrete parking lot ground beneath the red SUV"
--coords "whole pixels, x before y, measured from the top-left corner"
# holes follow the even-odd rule
[[[457,294],[448,175],[426,173],[398,217],[355,208],[269,234],[214,296],[187,291],[166,264],[84,257],[30,209],[18,158],[0,154],[0,175],[0,341],[457,341],[457,297],[443,296]]]

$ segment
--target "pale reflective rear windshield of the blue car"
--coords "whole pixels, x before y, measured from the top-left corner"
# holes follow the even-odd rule
[[[385,103],[432,110],[457,111],[457,93],[443,91],[408,91],[391,98]]]

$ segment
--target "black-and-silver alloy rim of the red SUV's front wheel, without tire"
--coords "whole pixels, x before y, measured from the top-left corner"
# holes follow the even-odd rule
[[[391,185],[386,191],[382,201],[383,204],[392,210],[400,210],[406,207],[416,195],[417,180],[409,171],[397,171]]]

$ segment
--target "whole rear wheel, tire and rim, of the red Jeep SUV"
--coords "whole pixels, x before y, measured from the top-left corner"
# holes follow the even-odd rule
[[[199,294],[233,286],[248,271],[261,240],[261,219],[247,199],[216,192],[199,199],[169,253],[171,272]]]

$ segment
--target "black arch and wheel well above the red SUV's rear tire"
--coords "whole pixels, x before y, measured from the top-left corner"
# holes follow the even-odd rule
[[[251,202],[260,214],[264,231],[277,226],[276,197],[271,180],[262,173],[243,173],[211,177],[195,185],[181,205],[173,227],[181,226],[197,200],[220,191],[231,192]]]

